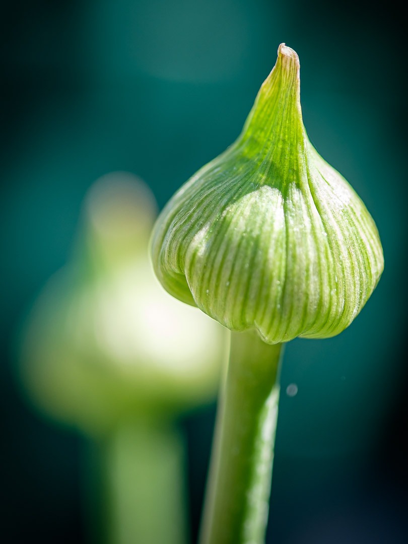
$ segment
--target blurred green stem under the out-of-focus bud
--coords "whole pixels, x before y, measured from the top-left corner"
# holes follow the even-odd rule
[[[97,542],[188,542],[181,435],[151,422],[126,423],[110,434],[103,450],[102,486],[94,486],[94,494],[101,493],[103,537],[96,536]]]

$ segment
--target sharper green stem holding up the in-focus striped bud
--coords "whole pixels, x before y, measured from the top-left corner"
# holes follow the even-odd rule
[[[282,344],[232,332],[201,544],[261,544],[268,521]]]

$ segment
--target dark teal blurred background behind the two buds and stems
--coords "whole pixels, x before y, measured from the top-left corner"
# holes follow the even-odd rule
[[[287,346],[267,542],[406,541],[400,19],[349,0],[2,2],[0,540],[86,542],[83,438],[38,415],[14,377],[16,331],[69,259],[86,191],[124,170],[149,184],[161,208],[237,137],[286,42],[300,57],[308,134],[366,203],[386,264],[347,331]],[[214,415],[215,402],[180,421],[191,542]]]

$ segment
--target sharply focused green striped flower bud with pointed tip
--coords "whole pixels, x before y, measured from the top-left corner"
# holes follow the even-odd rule
[[[384,267],[372,217],[307,137],[299,69],[281,44],[238,139],[177,191],[152,237],[169,293],[271,344],[343,331]]]

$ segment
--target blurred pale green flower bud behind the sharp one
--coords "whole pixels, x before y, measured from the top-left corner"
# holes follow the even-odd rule
[[[98,180],[75,257],[46,283],[20,334],[26,392],[91,434],[124,418],[169,418],[218,391],[225,329],[159,285],[147,251],[155,218],[137,178]]]

